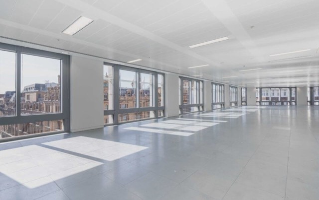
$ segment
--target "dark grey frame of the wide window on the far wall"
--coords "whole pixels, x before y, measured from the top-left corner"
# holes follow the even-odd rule
[[[256,87],[256,89],[258,89],[258,88],[259,88],[259,101],[256,100],[256,104],[257,105],[261,105],[261,106],[289,106],[289,105],[276,105],[276,104],[272,105],[273,102],[274,103],[278,103],[278,102],[281,102],[281,103],[287,102],[288,103],[289,102],[290,106],[296,106],[297,105],[297,87]],[[280,92],[279,92],[280,98],[281,98],[281,89],[282,88],[288,88],[289,89],[289,101],[282,101],[281,99],[280,99],[280,101],[272,101],[271,100],[271,97],[272,97],[271,90],[272,89],[277,89],[277,88],[280,89]],[[292,100],[292,88],[295,88],[295,91],[296,91],[296,93],[295,93],[295,99],[296,100],[295,101]],[[270,100],[269,101],[263,101],[262,100],[262,89],[270,89]],[[262,105],[263,102],[269,102],[269,105]],[[295,103],[295,105],[292,105],[293,102]]]

